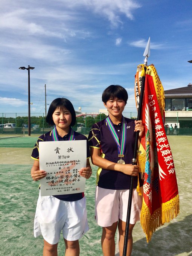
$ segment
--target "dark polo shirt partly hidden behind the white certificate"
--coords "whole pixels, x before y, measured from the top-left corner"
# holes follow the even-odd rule
[[[70,131],[64,137],[61,137],[57,134],[59,141],[68,140],[69,134],[70,134]],[[74,135],[75,135],[75,140],[86,140],[87,141],[87,158],[89,158],[90,150],[89,150],[89,144],[88,144],[87,137],[85,137],[81,133],[77,133],[76,131],[74,131]],[[34,149],[32,151],[32,154],[31,154],[31,158],[33,158],[34,160],[39,160],[39,142],[42,142],[42,141],[53,141],[52,131],[49,131],[48,133],[43,134],[38,138],[38,140],[34,146]],[[56,197],[59,200],[63,200],[63,201],[77,201],[84,197],[84,193],[76,193],[76,194],[69,194],[69,195],[54,195],[53,197]]]

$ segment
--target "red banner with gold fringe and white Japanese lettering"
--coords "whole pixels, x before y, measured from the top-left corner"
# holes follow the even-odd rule
[[[140,215],[146,239],[179,213],[179,196],[174,161],[164,128],[165,98],[153,65],[139,65],[136,74],[136,102],[139,105],[141,76],[145,76],[142,121],[145,134],[139,148],[139,169],[145,173]],[[139,79],[139,80],[138,80]],[[138,81],[138,82],[137,82]]]

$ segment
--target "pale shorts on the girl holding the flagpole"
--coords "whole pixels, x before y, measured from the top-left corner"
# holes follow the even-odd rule
[[[143,187],[140,187],[141,192]],[[95,217],[99,226],[110,227],[119,219],[126,222],[129,189],[113,190],[96,187]],[[133,189],[130,224],[140,220],[143,197]]]

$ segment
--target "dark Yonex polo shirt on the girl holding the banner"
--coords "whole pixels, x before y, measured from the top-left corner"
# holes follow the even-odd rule
[[[125,157],[122,159],[126,164],[132,164],[134,143],[136,132],[135,120],[125,117],[126,122],[126,142],[125,142]],[[121,137],[122,123],[114,125],[117,131],[119,140]],[[106,120],[94,123],[92,129],[90,130],[88,141],[90,147],[99,148],[101,150],[101,157],[117,163],[120,159],[118,157],[117,144],[113,139],[113,136],[107,126]],[[140,176],[140,175],[139,175]],[[99,168],[97,171],[97,186],[106,189],[130,189],[130,175],[126,175],[123,172],[117,172],[107,169]],[[142,186],[142,180],[139,180],[140,186]],[[137,187],[137,178],[134,178],[133,188]]]

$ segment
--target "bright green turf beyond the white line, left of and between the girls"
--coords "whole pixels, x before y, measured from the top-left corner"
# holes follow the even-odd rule
[[[0,165],[0,255],[39,256],[43,253],[42,236],[34,238],[33,222],[38,198],[38,182],[32,181],[28,165]],[[102,255],[101,227],[94,220],[95,177],[86,183],[87,211],[90,230],[80,240],[81,255]],[[64,255],[64,241],[58,255]]]

